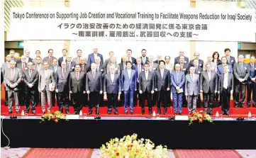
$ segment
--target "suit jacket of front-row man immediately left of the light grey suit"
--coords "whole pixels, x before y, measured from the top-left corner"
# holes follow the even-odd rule
[[[23,72],[23,82],[26,84],[25,91],[36,91],[38,89],[38,71],[32,69],[31,77],[29,76],[28,69]],[[33,84],[31,88],[28,84]]]

